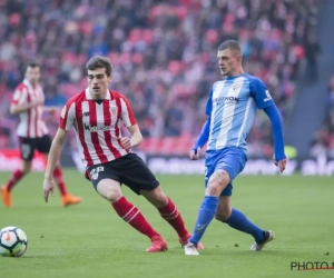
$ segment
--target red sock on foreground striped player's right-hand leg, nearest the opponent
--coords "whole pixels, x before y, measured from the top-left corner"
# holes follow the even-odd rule
[[[178,212],[174,202],[167,197],[168,203],[164,208],[159,208],[160,216],[170,224],[179,237],[185,237],[189,232],[185,227],[184,219]]]

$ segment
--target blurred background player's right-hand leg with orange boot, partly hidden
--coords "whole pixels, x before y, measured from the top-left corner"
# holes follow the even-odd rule
[[[46,135],[41,138],[38,138],[37,149],[39,152],[43,153],[48,158],[48,153],[50,151],[51,143],[52,143],[52,141],[51,141],[50,136]],[[62,173],[62,169],[61,169],[59,161],[53,171],[53,179],[55,179],[57,187],[59,189],[59,192],[61,195],[61,205],[63,207],[67,207],[70,205],[77,205],[77,203],[81,202],[81,198],[75,197],[67,192],[63,173]]]

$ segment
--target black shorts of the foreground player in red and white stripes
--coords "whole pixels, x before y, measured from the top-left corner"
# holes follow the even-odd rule
[[[137,195],[140,195],[140,190],[150,191],[159,186],[155,175],[136,153],[126,155],[107,163],[90,166],[85,176],[96,190],[102,179],[112,179],[120,185],[124,183]]]

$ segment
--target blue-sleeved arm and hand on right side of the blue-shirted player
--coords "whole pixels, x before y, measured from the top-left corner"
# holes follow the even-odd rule
[[[275,165],[278,166],[281,172],[283,172],[286,166],[286,156],[284,153],[282,117],[275,103],[273,103],[269,107],[266,107],[264,111],[266,112],[266,115],[269,117],[272,121],[272,129],[273,129],[274,143],[275,143],[274,161]]]

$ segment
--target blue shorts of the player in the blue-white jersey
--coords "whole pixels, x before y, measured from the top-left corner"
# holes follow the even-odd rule
[[[227,147],[219,150],[207,150],[205,153],[205,187],[212,175],[223,169],[229,175],[229,183],[220,196],[232,196],[233,180],[245,168],[247,157],[238,147]]]

